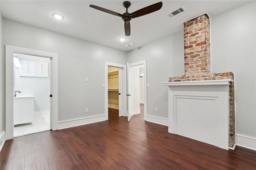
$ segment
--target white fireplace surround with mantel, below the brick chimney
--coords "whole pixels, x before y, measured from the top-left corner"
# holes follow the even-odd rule
[[[228,150],[229,85],[233,80],[163,83],[168,90],[168,132]]]

